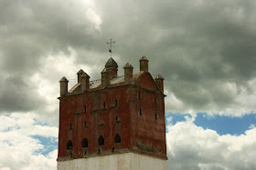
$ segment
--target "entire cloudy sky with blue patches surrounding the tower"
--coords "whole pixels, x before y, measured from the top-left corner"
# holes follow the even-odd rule
[[[256,1],[0,1],[0,169],[55,169],[59,79],[165,78],[168,170],[256,169]]]

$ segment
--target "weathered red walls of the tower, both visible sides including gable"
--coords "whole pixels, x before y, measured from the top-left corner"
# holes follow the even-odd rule
[[[140,86],[144,86],[142,88]],[[88,154],[115,149],[133,148],[155,155],[166,155],[164,95],[155,89],[151,75],[144,74],[138,85],[120,85],[59,98],[59,155],[69,155],[66,145],[72,141],[73,155],[83,155],[82,140],[87,138]],[[141,94],[141,99],[138,93]],[[155,104],[156,99],[156,104]],[[115,106],[115,100],[118,105]],[[106,109],[103,108],[106,102]],[[84,113],[84,105],[87,107]],[[142,109],[142,115],[140,115]],[[158,119],[155,119],[155,113]],[[116,122],[116,116],[121,122]],[[87,127],[84,126],[86,121]],[[69,125],[72,124],[72,129]],[[121,144],[114,144],[114,136],[121,136]],[[104,137],[104,145],[98,138]]]

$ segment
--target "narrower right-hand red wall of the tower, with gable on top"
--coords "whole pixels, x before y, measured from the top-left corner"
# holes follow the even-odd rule
[[[151,81],[141,81],[148,89],[154,89]],[[141,99],[138,94],[140,93]],[[132,145],[134,149],[143,149],[156,155],[166,155],[165,145],[165,102],[164,95],[145,90],[141,87],[133,88],[131,109]],[[140,109],[142,115],[140,115]],[[155,119],[155,114],[157,119]]]

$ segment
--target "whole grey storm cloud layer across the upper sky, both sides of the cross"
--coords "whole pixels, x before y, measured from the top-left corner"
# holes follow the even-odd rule
[[[23,82],[23,94],[16,96],[26,95],[31,88],[25,78],[40,71],[42,58],[59,51],[69,55],[71,47],[80,56],[77,64],[98,69],[91,78],[99,78],[109,57],[106,41],[112,37],[119,75],[127,62],[138,71],[138,60],[146,55],[150,72],[165,77],[166,91],[184,103],[182,109],[210,110],[215,105],[221,111],[240,105],[234,102],[240,91],[231,93],[227,85],[255,91],[248,85],[256,78],[255,6],[252,0],[95,1],[84,8],[74,1],[1,2],[1,74]],[[101,30],[86,16],[89,8],[101,17]],[[7,94],[0,96],[2,105],[9,105],[3,100]],[[37,97],[27,95],[25,100]],[[1,110],[10,110],[5,107]]]

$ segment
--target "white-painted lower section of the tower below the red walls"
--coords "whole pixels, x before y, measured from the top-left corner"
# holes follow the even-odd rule
[[[166,160],[134,153],[59,161],[59,170],[166,170]]]

